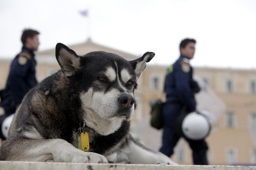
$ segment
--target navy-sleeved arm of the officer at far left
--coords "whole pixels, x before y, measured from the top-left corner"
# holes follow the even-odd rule
[[[28,86],[25,82],[25,77],[29,68],[32,65],[32,60],[23,58],[22,61],[15,59],[10,70],[10,92],[13,97],[15,106],[19,105],[27,93]]]

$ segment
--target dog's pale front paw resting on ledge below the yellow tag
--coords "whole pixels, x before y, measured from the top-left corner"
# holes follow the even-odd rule
[[[76,154],[73,157],[72,162],[76,163],[108,163],[105,156],[93,152],[83,152]]]

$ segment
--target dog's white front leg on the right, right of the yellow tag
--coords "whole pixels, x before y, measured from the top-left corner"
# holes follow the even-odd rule
[[[117,158],[130,164],[177,164],[163,153],[151,150],[137,142],[131,135],[120,149]]]

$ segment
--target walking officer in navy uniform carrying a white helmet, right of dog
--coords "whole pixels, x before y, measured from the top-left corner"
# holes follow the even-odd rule
[[[191,140],[175,130],[175,123],[182,112],[196,111],[194,94],[200,88],[192,79],[193,68],[189,64],[189,60],[195,53],[195,43],[196,41],[193,39],[182,40],[180,42],[180,57],[167,69],[164,85],[166,93],[166,105],[163,107],[164,131],[160,152],[166,156],[172,156],[178,140],[180,137],[184,137],[193,151],[194,164],[207,165],[208,147],[205,140]]]

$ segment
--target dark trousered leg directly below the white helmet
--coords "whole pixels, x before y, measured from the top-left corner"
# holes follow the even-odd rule
[[[204,139],[201,140],[191,140],[186,139],[189,143],[190,148],[192,149],[193,153],[193,162],[195,165],[208,165],[207,161],[207,150],[208,146]]]

